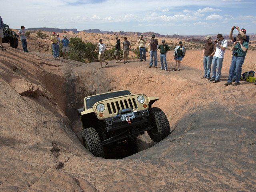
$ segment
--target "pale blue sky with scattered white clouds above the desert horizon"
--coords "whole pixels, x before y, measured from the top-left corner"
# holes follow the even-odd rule
[[[233,25],[256,34],[255,0],[0,0],[10,28],[229,34]],[[12,5],[12,6],[11,6]]]

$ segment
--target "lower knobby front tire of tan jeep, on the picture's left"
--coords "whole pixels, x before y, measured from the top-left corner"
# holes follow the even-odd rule
[[[84,146],[94,156],[105,158],[103,146],[100,142],[100,137],[94,128],[90,127],[90,128],[84,129],[82,131],[82,138],[83,138]]]

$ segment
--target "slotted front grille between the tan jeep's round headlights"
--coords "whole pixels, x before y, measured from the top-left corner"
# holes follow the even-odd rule
[[[138,106],[136,104],[135,98],[132,98],[132,99],[129,98],[129,99],[118,100],[116,102],[108,102],[107,108],[108,108],[109,114],[112,114],[112,113],[117,113],[121,109],[132,108],[132,110],[136,110]]]

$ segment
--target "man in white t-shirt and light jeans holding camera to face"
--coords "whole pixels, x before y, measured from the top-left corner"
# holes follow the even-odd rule
[[[216,49],[214,58],[212,60],[212,78],[209,81],[213,81],[214,83],[220,82],[220,74],[222,68],[222,62],[224,58],[224,53],[228,46],[228,41],[224,40],[222,34],[217,35],[217,39],[215,39],[214,48]],[[217,68],[217,73],[216,73]]]

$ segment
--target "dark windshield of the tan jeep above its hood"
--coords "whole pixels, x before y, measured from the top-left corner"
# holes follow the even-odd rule
[[[85,99],[86,109],[91,108],[94,105],[94,103],[98,101],[102,101],[102,100],[114,98],[114,97],[125,96],[125,95],[131,95],[131,92],[129,90],[123,90],[123,91],[109,92],[109,93],[104,93],[100,95],[89,96]]]

